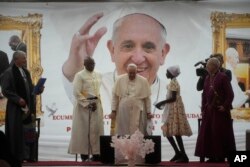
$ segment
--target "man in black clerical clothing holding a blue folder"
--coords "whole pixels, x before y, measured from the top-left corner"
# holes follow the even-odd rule
[[[13,66],[2,79],[3,95],[7,98],[5,133],[11,153],[20,162],[35,161],[35,95],[30,72],[25,68],[26,53],[13,54]],[[43,89],[39,93],[42,93]]]

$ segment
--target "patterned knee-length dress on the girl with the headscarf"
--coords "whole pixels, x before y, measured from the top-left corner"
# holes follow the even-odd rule
[[[167,85],[167,99],[170,98],[171,92],[175,91],[176,101],[171,103],[166,103],[162,121],[164,125],[162,126],[163,135],[166,137],[170,136],[191,136],[192,130],[188,123],[184,104],[180,96],[180,85],[176,78],[173,78],[169,85]]]

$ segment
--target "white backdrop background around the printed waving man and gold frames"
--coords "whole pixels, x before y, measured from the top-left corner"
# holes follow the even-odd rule
[[[110,38],[112,23],[126,10],[147,11],[166,26],[170,52],[165,64],[159,69],[159,76],[167,81],[165,70],[178,64],[181,74],[178,77],[186,114],[193,130],[191,137],[184,137],[186,152],[190,160],[194,157],[197,139],[197,118],[200,115],[201,92],[196,91],[194,64],[204,60],[212,53],[212,30],[210,14],[214,11],[227,13],[250,13],[250,3],[215,3],[215,2],[127,2],[127,3],[0,3],[0,14],[5,16],[27,16],[28,13],[43,15],[41,29],[41,63],[43,77],[47,78],[42,94],[44,111],[39,140],[39,160],[74,160],[74,155],[67,153],[70,140],[73,106],[65,93],[62,64],[66,60],[71,38],[79,27],[93,14],[104,12],[96,28],[106,26],[108,32],[100,40],[94,58],[96,69],[103,73],[112,72],[106,41]],[[0,23],[1,24],[1,23]],[[90,32],[90,33],[91,33]],[[11,59],[13,51],[8,46],[8,39],[16,31],[0,32],[0,49]],[[249,34],[248,34],[249,35]],[[165,86],[164,86],[165,88]],[[51,114],[51,110],[55,113]],[[105,134],[109,135],[110,120],[104,117]],[[156,126],[161,126],[161,115],[154,119]],[[248,121],[234,121],[234,132],[238,150],[245,150],[245,131],[250,128]],[[4,129],[4,126],[0,127]],[[159,129],[159,128],[158,128]],[[154,131],[154,135],[161,135]],[[174,151],[166,138],[162,137],[162,160],[169,160]]]

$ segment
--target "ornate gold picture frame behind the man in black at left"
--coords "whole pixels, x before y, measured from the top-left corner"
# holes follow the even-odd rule
[[[31,73],[34,84],[37,83],[43,72],[40,55],[41,28],[41,14],[28,14],[27,16],[0,15],[0,31],[16,30],[21,32],[21,39],[27,45],[27,68]],[[36,102],[36,112],[41,115],[41,96],[37,96]],[[3,117],[0,113],[0,122],[3,121]]]

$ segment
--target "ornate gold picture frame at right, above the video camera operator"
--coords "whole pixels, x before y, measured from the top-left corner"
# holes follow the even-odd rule
[[[212,12],[210,16],[212,35],[213,35],[213,53],[222,53],[225,55],[225,51],[228,47],[227,44],[227,30],[229,29],[250,29],[250,13],[226,13],[226,12]],[[241,65],[246,65],[247,63],[242,63]],[[247,64],[248,65],[248,64]],[[248,69],[245,68],[245,73],[247,76],[244,77],[247,83],[247,88],[249,89],[249,65]],[[243,69],[243,68],[241,68]],[[240,107],[232,110],[232,117],[234,119],[243,119],[250,121],[250,108]]]

